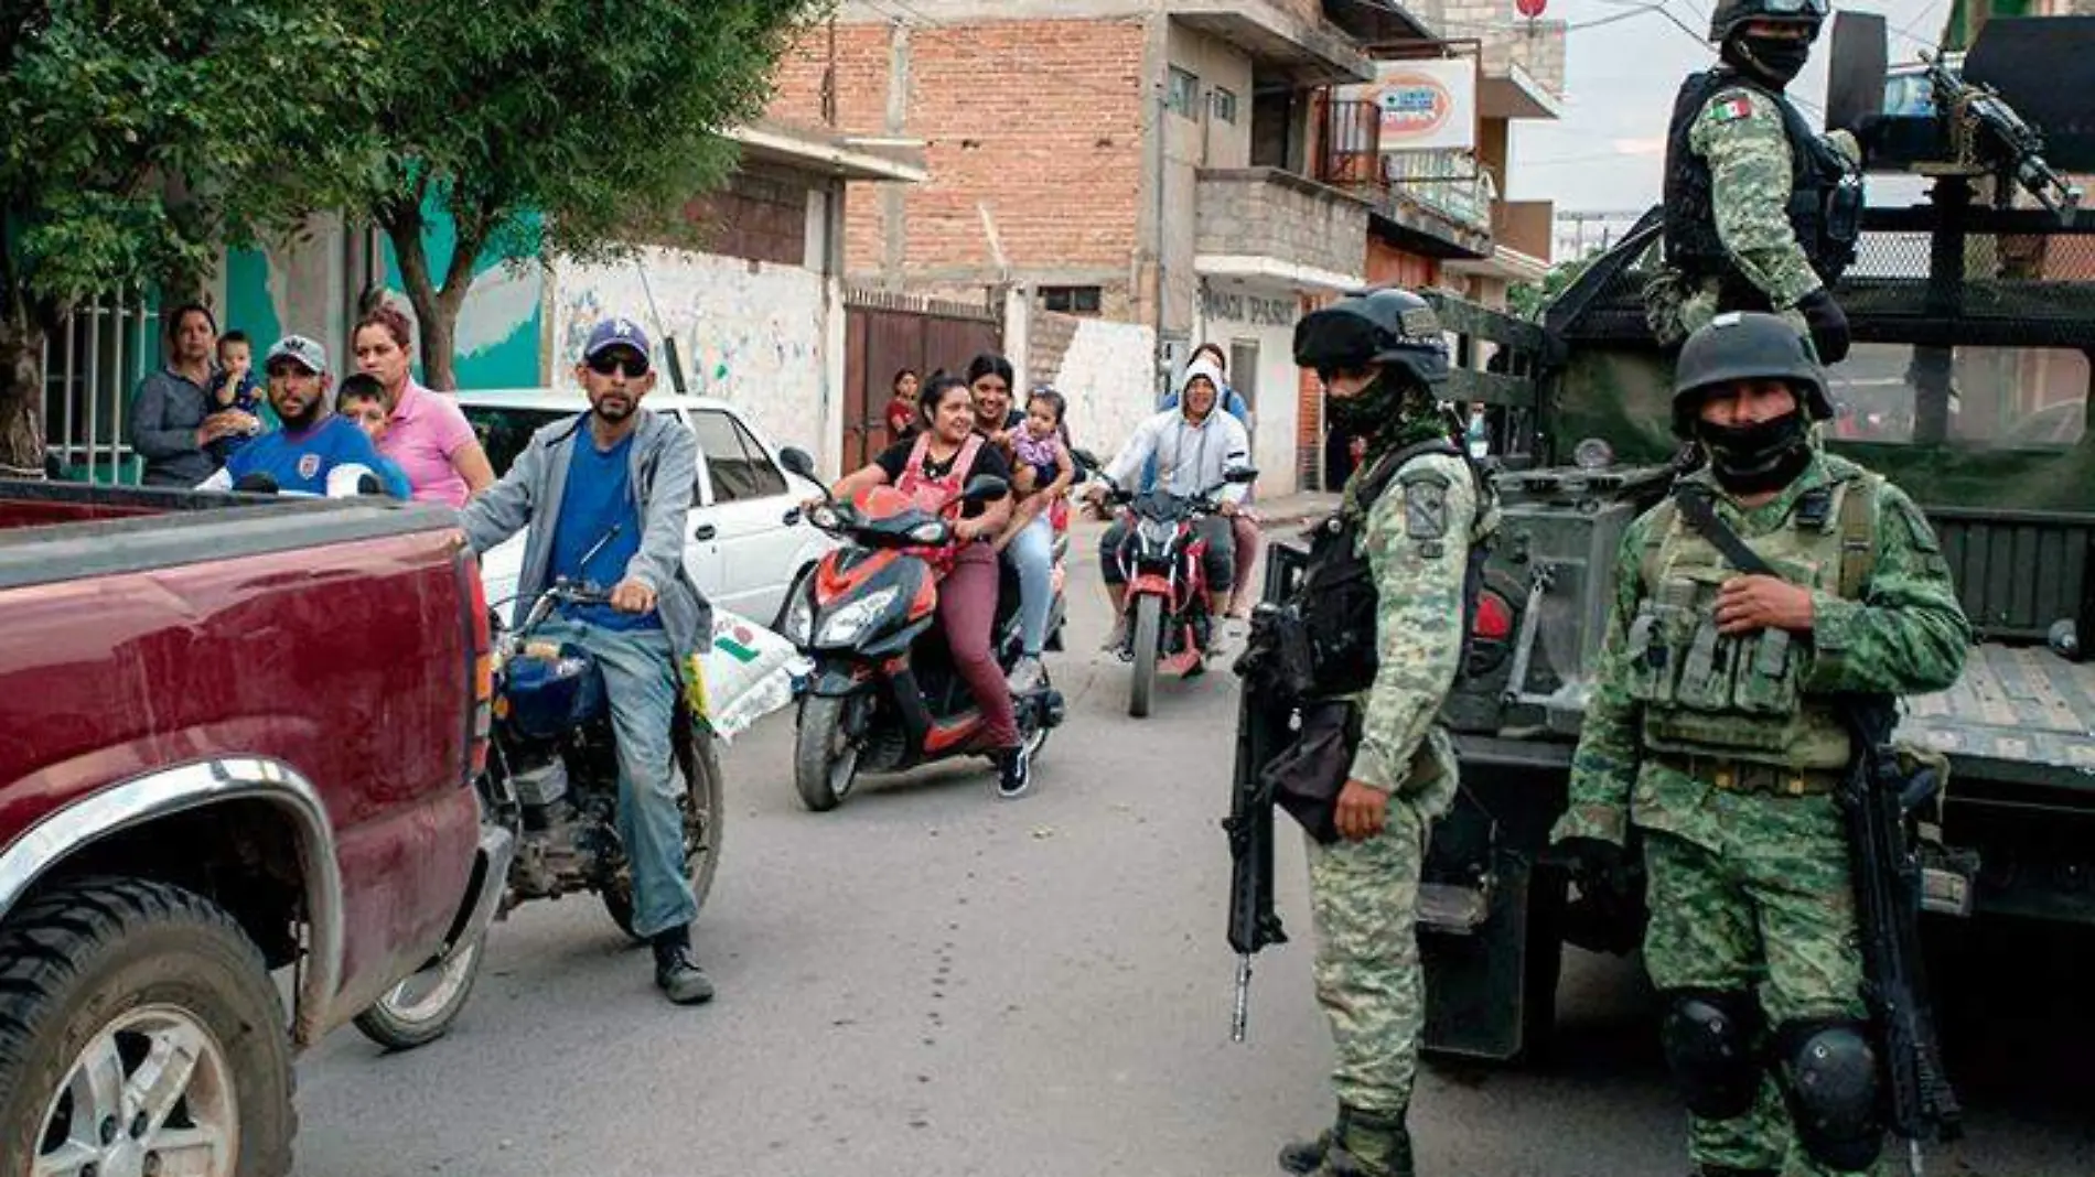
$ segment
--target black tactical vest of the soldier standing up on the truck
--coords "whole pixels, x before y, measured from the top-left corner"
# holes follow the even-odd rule
[[[1751,90],[1783,113],[1789,140],[1789,226],[1810,258],[1812,270],[1833,285],[1854,264],[1854,243],[1862,218],[1862,178],[1777,90],[1768,90],[1730,69],[1691,75],[1674,98],[1674,121],[1666,128],[1666,262],[1689,279],[1722,279],[1724,310],[1781,310],[1766,306],[1724,249],[1710,203],[1710,161],[1689,147],[1689,132],[1710,98],[1722,90]]]

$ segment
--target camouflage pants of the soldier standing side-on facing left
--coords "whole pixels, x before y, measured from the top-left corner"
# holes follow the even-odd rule
[[[1412,1102],[1425,978],[1418,974],[1418,869],[1427,823],[1389,798],[1383,831],[1364,842],[1309,842],[1316,999],[1330,1020],[1339,1102],[1397,1114]]]

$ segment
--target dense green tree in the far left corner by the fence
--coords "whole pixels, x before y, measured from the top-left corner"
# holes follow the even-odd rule
[[[373,46],[300,0],[0,0],[0,463],[44,469],[42,348],[96,295],[201,289],[297,224]]]

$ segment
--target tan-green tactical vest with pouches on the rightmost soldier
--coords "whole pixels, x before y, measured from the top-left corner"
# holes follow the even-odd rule
[[[1821,459],[1829,484],[1798,496],[1787,526],[1741,540],[1783,580],[1860,599],[1875,561],[1881,478]],[[1848,764],[1848,729],[1827,697],[1800,687],[1810,651],[1789,630],[1720,635],[1718,588],[1739,576],[1668,498],[1651,519],[1642,599],[1628,635],[1628,693],[1642,704],[1645,748],[1779,769]]]

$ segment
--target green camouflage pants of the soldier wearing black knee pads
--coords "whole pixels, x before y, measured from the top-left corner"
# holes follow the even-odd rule
[[[1645,829],[1653,984],[1754,993],[1770,1032],[1800,1018],[1865,1016],[1848,840],[1833,798],[1712,794],[1712,804],[1726,808],[1722,850]],[[1783,1177],[1835,1173],[1798,1146],[1772,1072],[1745,1116],[1691,1118],[1689,1154]]]

